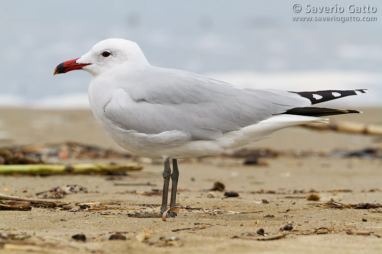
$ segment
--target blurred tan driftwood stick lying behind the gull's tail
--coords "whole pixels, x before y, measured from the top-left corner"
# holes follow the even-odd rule
[[[333,130],[352,134],[365,134],[382,136],[382,125],[365,124],[361,122],[338,121],[330,123],[308,123],[302,125],[305,128],[320,131]]]

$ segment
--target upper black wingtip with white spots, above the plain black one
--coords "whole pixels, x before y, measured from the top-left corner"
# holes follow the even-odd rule
[[[293,92],[297,93],[299,96],[307,98],[311,101],[312,105],[332,101],[338,98],[358,95],[362,93],[369,92],[368,89],[356,89],[356,90],[323,90],[323,91],[312,91],[312,92]]]

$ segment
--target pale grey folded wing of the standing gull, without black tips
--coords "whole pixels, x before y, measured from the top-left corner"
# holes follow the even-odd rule
[[[149,74],[147,74],[149,73]],[[126,130],[147,134],[182,131],[214,140],[295,107],[308,99],[279,90],[243,89],[185,71],[153,67],[134,86],[119,89],[106,116]]]

